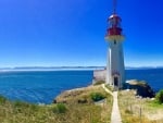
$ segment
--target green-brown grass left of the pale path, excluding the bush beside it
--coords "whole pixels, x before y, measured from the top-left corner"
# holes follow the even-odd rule
[[[104,94],[103,89],[96,86],[90,90],[84,90],[79,96],[70,97],[66,103],[47,106],[10,101],[0,97],[0,123],[108,123],[112,109],[110,95],[106,95],[106,103],[102,106],[96,106],[92,101],[74,101],[83,96],[90,98],[90,91]]]

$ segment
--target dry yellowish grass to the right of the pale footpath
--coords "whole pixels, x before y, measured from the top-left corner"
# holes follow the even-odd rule
[[[123,123],[162,123],[163,104],[146,98],[136,98],[135,91],[122,90],[118,104]],[[141,116],[140,116],[141,115]]]

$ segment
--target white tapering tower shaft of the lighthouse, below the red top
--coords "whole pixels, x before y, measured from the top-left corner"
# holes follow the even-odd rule
[[[124,54],[122,41],[109,41],[106,84],[121,89],[125,83]]]

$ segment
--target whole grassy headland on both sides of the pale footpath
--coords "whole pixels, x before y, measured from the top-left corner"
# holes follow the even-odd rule
[[[163,104],[135,95],[135,90],[118,93],[123,123],[163,123]],[[112,101],[101,85],[64,91],[46,106],[1,96],[0,123],[110,123]]]

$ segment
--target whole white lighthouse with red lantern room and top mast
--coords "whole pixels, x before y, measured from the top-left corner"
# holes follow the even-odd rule
[[[124,53],[121,17],[116,14],[116,1],[113,0],[113,14],[108,19],[105,40],[109,44],[106,60],[106,84],[120,89],[125,82]]]

